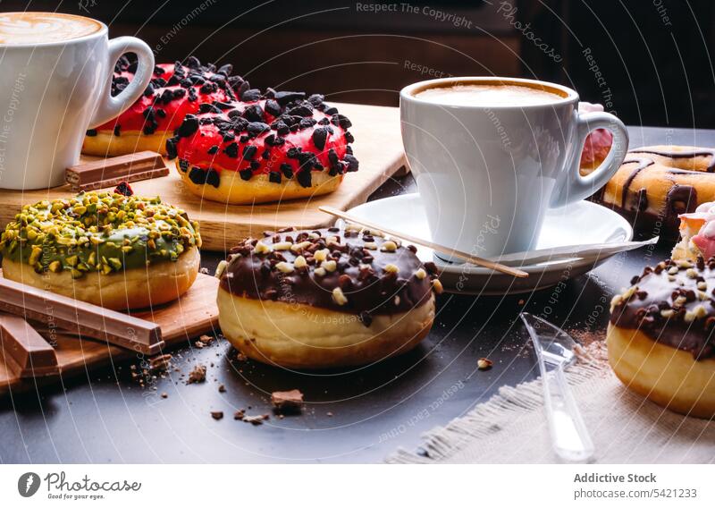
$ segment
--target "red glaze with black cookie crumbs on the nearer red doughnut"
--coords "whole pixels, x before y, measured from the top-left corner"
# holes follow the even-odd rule
[[[241,89],[245,85],[242,81]],[[197,171],[237,171],[245,181],[268,174],[269,182],[280,184],[295,176],[306,188],[313,185],[314,171],[326,170],[330,176],[357,171],[349,147],[354,138],[345,131],[352,123],[326,105],[323,96],[306,99],[302,92],[243,89],[240,97],[242,102],[214,101],[198,106],[198,114],[186,114],[166,140],[168,156]],[[191,181],[206,179],[195,175]]]

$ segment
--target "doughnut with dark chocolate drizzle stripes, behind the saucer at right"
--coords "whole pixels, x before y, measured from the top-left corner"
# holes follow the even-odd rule
[[[713,172],[712,148],[636,148],[628,152],[597,200],[625,216],[639,236],[677,241],[677,216],[715,200]]]

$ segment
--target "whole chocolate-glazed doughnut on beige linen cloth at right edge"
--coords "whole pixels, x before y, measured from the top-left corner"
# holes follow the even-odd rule
[[[609,362],[631,390],[690,416],[715,416],[715,258],[646,267],[611,301]]]

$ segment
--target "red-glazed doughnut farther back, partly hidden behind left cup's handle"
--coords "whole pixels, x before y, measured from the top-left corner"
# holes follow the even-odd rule
[[[216,70],[214,65],[201,65],[190,56],[187,64],[159,63],[154,77],[142,97],[124,113],[97,129],[87,131],[82,153],[114,157],[141,150],[166,154],[166,139],[181,125],[184,116],[197,113],[205,102],[227,102],[245,82],[230,76],[231,64]],[[122,57],[114,69],[112,95],[126,87],[134,76],[136,63]],[[248,88],[248,82],[243,85]]]

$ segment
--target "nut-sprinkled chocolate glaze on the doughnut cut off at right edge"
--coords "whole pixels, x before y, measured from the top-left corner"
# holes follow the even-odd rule
[[[669,259],[645,267],[631,284],[611,301],[613,325],[639,329],[696,360],[715,357],[715,258],[707,263]]]

